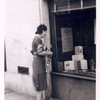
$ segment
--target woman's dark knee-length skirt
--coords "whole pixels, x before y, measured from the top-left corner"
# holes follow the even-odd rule
[[[33,60],[33,83],[36,91],[43,91],[47,89],[45,59],[37,57]]]

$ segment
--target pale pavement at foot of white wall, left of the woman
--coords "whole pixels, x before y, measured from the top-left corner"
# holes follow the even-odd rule
[[[36,100],[36,97],[18,93],[10,89],[5,89],[4,100]]]

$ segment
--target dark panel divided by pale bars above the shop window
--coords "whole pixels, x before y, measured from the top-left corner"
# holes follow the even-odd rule
[[[68,11],[96,6],[96,0],[54,0],[56,11]]]

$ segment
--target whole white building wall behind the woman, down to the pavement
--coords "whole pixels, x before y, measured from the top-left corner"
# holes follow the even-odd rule
[[[48,27],[45,41],[50,46],[48,5],[44,0],[5,0],[5,3],[5,88],[35,96],[32,84],[33,56],[30,50],[40,23]],[[18,66],[28,67],[29,75],[19,74]]]

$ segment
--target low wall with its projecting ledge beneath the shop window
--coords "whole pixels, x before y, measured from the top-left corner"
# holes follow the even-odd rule
[[[51,72],[52,97],[60,100],[95,100],[96,78]]]

